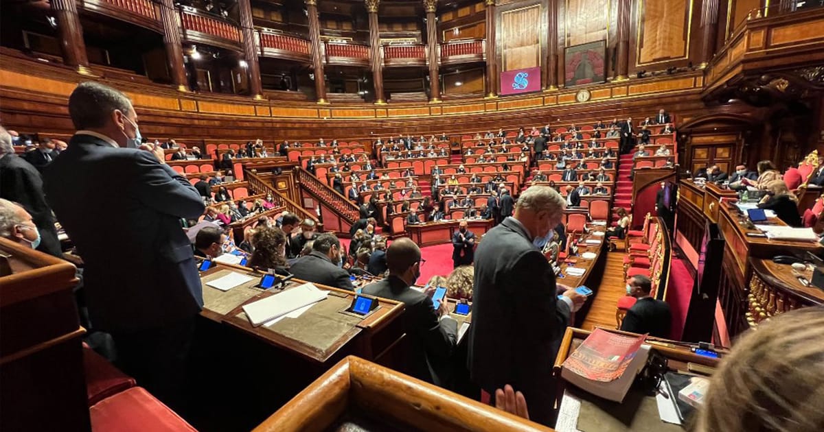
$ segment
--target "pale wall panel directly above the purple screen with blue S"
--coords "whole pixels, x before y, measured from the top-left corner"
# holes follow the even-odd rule
[[[541,66],[541,4],[501,12],[500,39],[503,71]]]

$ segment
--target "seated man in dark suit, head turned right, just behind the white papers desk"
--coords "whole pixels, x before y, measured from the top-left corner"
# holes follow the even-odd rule
[[[334,234],[318,235],[312,244],[311,253],[297,258],[297,261],[289,266],[289,272],[303,281],[334,286],[342,290],[354,290],[352,281],[349,280],[349,272],[338,267],[340,251],[340,240]]]

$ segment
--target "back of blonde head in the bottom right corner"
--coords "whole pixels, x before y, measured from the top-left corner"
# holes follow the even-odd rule
[[[824,430],[824,308],[770,318],[721,360],[698,412],[700,432]]]

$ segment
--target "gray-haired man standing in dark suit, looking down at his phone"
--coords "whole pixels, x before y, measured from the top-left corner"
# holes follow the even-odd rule
[[[552,360],[569,314],[586,300],[555,284],[555,272],[534,245],[563,215],[564,198],[554,188],[531,186],[518,197],[513,216],[489,230],[475,251],[471,379],[493,396],[511,384],[526,397],[531,420],[544,425],[550,425],[555,400]]]

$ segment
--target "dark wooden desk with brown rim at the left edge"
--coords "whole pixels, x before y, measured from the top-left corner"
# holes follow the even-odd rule
[[[0,255],[0,430],[90,430],[75,267],[7,239]]]

